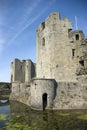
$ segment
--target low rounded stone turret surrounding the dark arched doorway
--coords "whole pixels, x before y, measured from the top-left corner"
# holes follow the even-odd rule
[[[47,95],[46,108],[53,107],[56,96],[56,84],[53,79],[33,79],[31,81],[31,108],[43,110],[43,95]]]

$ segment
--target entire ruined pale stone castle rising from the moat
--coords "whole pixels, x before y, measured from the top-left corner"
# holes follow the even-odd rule
[[[51,13],[36,30],[37,62],[11,63],[11,100],[35,110],[87,108],[87,39]]]

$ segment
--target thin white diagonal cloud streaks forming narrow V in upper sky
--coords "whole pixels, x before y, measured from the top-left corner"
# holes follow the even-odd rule
[[[25,13],[25,15],[23,16],[23,20],[22,22],[20,22],[21,28],[19,29],[19,31],[17,31],[17,33],[15,33],[15,35],[12,37],[11,40],[8,41],[8,44],[11,44],[26,28],[28,28],[31,24],[33,24],[42,14],[45,13],[45,11],[47,9],[49,9],[49,7],[52,5],[53,1],[50,1],[47,6],[40,11],[35,17],[32,17],[31,19],[27,19],[29,18],[29,15],[31,14],[32,11],[35,11],[35,7],[38,6],[38,4],[41,2],[42,0],[38,0],[38,2],[35,2],[33,4],[33,6],[28,9]]]

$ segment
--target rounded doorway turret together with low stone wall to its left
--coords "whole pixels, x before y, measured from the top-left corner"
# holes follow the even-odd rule
[[[27,104],[35,110],[43,110],[43,95],[47,94],[46,109],[53,108],[56,82],[53,79],[33,79],[31,84],[12,83],[10,99]]]

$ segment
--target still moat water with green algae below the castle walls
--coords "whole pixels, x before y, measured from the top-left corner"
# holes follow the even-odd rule
[[[3,101],[0,130],[87,130],[87,110],[39,112],[19,102]]]

